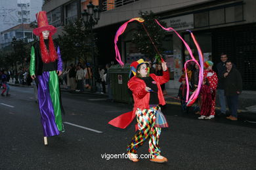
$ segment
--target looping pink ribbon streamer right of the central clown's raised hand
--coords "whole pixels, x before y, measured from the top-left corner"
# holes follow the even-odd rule
[[[200,89],[201,89],[201,86],[202,86],[202,80],[203,80],[203,55],[202,55],[202,51],[200,49],[200,46],[199,46],[198,42],[196,41],[196,38],[194,37],[193,33],[190,31],[190,35],[192,36],[192,39],[193,39],[194,43],[196,44],[196,48],[198,49],[198,54],[199,54],[199,59],[200,59],[200,64],[199,64],[198,61],[194,58],[192,50],[190,49],[190,46],[188,46],[186,41],[184,41],[184,39],[182,39],[181,35],[179,35],[179,33],[177,33],[177,31],[175,31],[175,29],[173,29],[172,27],[168,27],[168,28],[163,27],[158,22],[158,20],[156,20],[156,23],[158,23],[158,25],[160,25],[161,28],[165,29],[166,31],[174,31],[178,35],[178,37],[182,40],[182,42],[186,46],[186,49],[188,50],[188,52],[189,52],[189,54],[192,58],[192,59],[189,59],[188,61],[186,61],[185,64],[184,64],[185,75],[186,75],[186,87],[187,87],[186,88],[186,102],[187,102],[186,105],[191,106],[196,101],[196,99],[198,98],[198,95],[200,93]],[[188,99],[190,88],[189,88],[189,82],[188,82],[188,75],[186,73],[186,65],[189,61],[194,61],[199,66],[200,71],[199,71],[198,88],[194,91],[194,93],[192,93],[192,95]]]

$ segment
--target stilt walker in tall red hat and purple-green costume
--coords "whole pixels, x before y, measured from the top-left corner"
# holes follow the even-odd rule
[[[54,44],[52,38],[56,27],[48,24],[45,11],[40,11],[35,16],[38,27],[33,29],[33,34],[39,36],[39,42],[32,46],[30,75],[37,84],[44,142],[47,144],[47,137],[64,131],[58,82],[58,76],[62,74],[62,59],[60,48]]]

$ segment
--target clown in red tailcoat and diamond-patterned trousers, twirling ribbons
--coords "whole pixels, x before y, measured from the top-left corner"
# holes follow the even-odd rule
[[[159,105],[165,105],[165,99],[161,90],[161,84],[168,82],[169,71],[166,63],[161,63],[163,67],[163,76],[149,74],[149,63],[143,59],[131,63],[131,72],[133,77],[128,82],[128,88],[133,92],[134,107],[132,112],[121,114],[114,118],[109,124],[125,128],[137,117],[138,124],[131,143],[127,146],[128,158],[131,161],[139,161],[137,150],[149,137],[150,161],[163,163],[167,158],[160,155],[158,145],[161,133],[161,127],[168,127]],[[161,121],[160,121],[161,120]]]

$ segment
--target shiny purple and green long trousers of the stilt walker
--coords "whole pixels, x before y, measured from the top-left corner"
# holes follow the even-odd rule
[[[38,103],[41,124],[45,137],[58,135],[62,131],[60,90],[56,71],[45,71],[38,79]]]

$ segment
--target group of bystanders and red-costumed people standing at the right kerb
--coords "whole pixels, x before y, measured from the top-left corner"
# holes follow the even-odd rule
[[[221,112],[218,116],[226,116],[229,120],[238,120],[238,96],[242,92],[242,76],[236,69],[234,63],[228,60],[226,54],[221,54],[221,62],[217,63],[215,71],[213,71],[213,62],[205,61],[203,68],[203,83],[200,89],[200,95],[196,103],[193,105],[194,112],[200,114],[198,119],[215,118],[215,100],[219,96]],[[187,69],[187,75],[190,86],[190,93],[198,88],[199,67],[192,61]],[[181,108],[183,112],[188,112],[186,107],[186,80],[185,71],[179,80],[181,86],[179,88],[178,98],[181,100]],[[226,101],[229,113],[226,112]],[[230,114],[230,116],[228,116]]]

